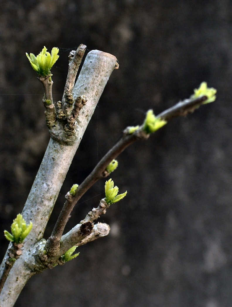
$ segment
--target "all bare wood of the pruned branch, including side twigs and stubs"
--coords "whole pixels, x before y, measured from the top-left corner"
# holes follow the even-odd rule
[[[101,200],[97,208],[93,208],[84,220],[65,235],[63,235],[63,231],[72,209],[82,195],[96,181],[109,174],[106,168],[110,162],[135,141],[144,140],[150,136],[150,132],[144,132],[143,126],[128,127],[124,130],[122,138],[99,161],[90,175],[79,185],[74,195],[67,193],[66,202],[50,238],[47,241],[42,239],[47,221],[86,126],[94,113],[110,74],[113,69],[118,68],[117,59],[114,56],[93,50],[87,55],[78,81],[74,86],[76,73],[85,49],[85,45],[80,45],[76,52],[70,53],[64,95],[56,107],[52,99],[51,75],[40,77],[40,81],[44,85],[43,103],[46,107],[46,122],[51,139],[23,209],[27,222],[31,221],[34,225],[29,239],[25,241],[25,252],[21,255],[21,247],[17,246],[12,249],[11,244],[0,267],[2,280],[4,280],[4,274],[9,274],[9,277],[5,278],[0,295],[0,300],[5,301],[7,306],[14,305],[18,294],[33,274],[63,264],[63,258],[60,257],[72,247],[108,235],[110,227],[107,224],[97,223],[94,225],[94,221],[105,214],[106,209],[109,208],[105,199]],[[33,56],[32,59],[34,59]],[[88,101],[86,97],[88,97]],[[160,113],[157,118],[167,121],[176,116],[185,116],[202,103],[206,103],[207,99],[208,97],[204,95],[196,99],[187,99]],[[214,101],[212,99],[214,97],[210,99]],[[71,190],[70,192],[72,193]],[[15,259],[20,257],[13,262],[14,266],[11,266],[12,270],[9,272],[12,256]]]

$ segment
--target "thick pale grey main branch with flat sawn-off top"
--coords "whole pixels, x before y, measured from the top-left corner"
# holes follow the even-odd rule
[[[29,251],[43,236],[74,154],[115,66],[117,59],[111,54],[93,50],[86,56],[73,93],[74,99],[79,95],[88,97],[88,102],[81,109],[78,118],[78,139],[71,146],[61,145],[53,139],[49,142],[22,213],[26,223],[33,222],[33,228],[24,244],[23,254],[15,262],[6,279],[0,295],[1,307],[13,306],[27,280],[34,274],[34,257]],[[5,258],[0,274],[4,267]]]

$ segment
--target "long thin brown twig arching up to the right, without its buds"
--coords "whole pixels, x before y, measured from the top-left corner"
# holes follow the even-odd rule
[[[192,113],[202,103],[208,99],[207,96],[201,96],[197,99],[191,100],[186,99],[182,102],[177,103],[174,107],[167,109],[166,111],[157,115],[157,118],[164,120],[170,120],[173,117],[185,116],[188,113]],[[126,130],[124,130],[126,131]],[[85,194],[85,192],[94,185],[99,179],[106,177],[105,169],[110,162],[118,157],[118,155],[124,151],[129,145],[136,142],[137,140],[145,140],[150,136],[143,131],[143,126],[140,126],[133,134],[124,133],[122,138],[106,153],[106,155],[98,162],[94,170],[88,177],[79,185],[76,194],[67,199],[62,211],[58,217],[55,227],[52,231],[50,238],[46,243],[46,250],[48,254],[55,255],[59,251],[60,239],[62,237],[64,227],[69,220],[70,213],[73,210],[78,200]]]

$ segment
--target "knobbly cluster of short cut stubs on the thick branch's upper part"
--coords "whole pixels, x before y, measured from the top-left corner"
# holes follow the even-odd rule
[[[43,104],[46,108],[46,123],[50,135],[54,140],[66,145],[72,145],[78,138],[79,131],[75,123],[80,110],[87,102],[87,97],[84,95],[73,98],[74,84],[85,50],[86,46],[81,44],[76,51],[70,52],[64,94],[62,101],[58,101],[56,107],[52,98],[52,75],[38,78],[44,88]]]

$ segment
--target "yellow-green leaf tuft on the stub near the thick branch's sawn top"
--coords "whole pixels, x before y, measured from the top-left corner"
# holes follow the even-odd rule
[[[44,46],[42,51],[35,56],[33,53],[26,53],[28,60],[32,68],[38,73],[39,76],[46,77],[51,75],[51,68],[58,60],[59,49],[56,47],[52,48],[51,54],[47,52],[47,48]]]

